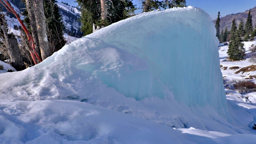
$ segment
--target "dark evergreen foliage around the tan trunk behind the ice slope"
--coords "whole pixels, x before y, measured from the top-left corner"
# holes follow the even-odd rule
[[[76,0],[81,7],[81,30],[84,35],[92,33],[92,24],[108,26],[114,22],[134,16],[135,5],[132,0],[106,0],[107,20],[101,19],[100,0]]]

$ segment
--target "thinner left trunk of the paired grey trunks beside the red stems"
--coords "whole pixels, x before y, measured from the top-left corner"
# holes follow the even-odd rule
[[[39,40],[38,40],[38,31],[36,28],[36,17],[35,17],[35,13],[34,13],[34,7],[32,6],[32,2],[30,2],[30,0],[26,0],[26,7],[27,7],[28,15],[29,15],[28,18],[30,21],[30,28],[31,28],[32,36],[34,38],[36,52],[40,56],[41,51],[40,51],[40,45],[39,45]]]

